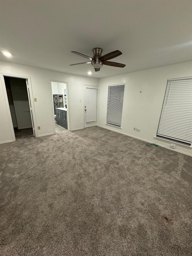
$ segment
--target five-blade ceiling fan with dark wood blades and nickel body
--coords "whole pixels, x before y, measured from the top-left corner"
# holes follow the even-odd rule
[[[103,65],[119,67],[119,68],[124,68],[125,67],[125,64],[121,64],[121,63],[117,63],[117,62],[112,62],[112,61],[107,61],[109,59],[113,59],[113,58],[121,55],[122,52],[120,52],[119,50],[116,50],[114,52],[107,53],[104,56],[101,56],[102,51],[103,50],[101,48],[94,48],[93,49],[93,58],[91,58],[89,56],[86,56],[86,55],[84,55],[82,53],[72,52],[72,53],[75,53],[75,54],[80,55],[82,57],[85,57],[85,58],[87,58],[87,59],[89,59],[91,61],[71,64],[70,66],[79,65],[79,64],[85,64],[85,63],[91,63],[92,67],[95,68],[95,71],[100,71],[100,68]]]

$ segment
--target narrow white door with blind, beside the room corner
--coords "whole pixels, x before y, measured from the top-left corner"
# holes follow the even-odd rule
[[[97,86],[84,88],[84,128],[97,125]]]

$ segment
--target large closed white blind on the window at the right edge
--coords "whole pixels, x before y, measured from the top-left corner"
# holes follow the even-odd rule
[[[157,137],[192,143],[192,79],[168,80]]]

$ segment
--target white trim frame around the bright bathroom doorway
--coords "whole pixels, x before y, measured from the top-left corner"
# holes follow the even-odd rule
[[[53,125],[53,133],[55,134],[55,112],[54,112],[54,102],[53,102],[53,94],[52,94],[52,86],[51,82],[56,82],[56,83],[65,83],[66,84],[66,94],[67,94],[67,130],[70,131],[70,108],[69,108],[69,95],[68,95],[68,83],[63,82],[63,81],[58,81],[58,80],[52,80],[49,79],[49,91],[50,91],[50,100],[51,100],[51,112],[52,112],[52,125]]]

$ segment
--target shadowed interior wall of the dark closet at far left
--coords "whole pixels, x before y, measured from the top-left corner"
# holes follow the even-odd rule
[[[26,80],[10,77],[9,81],[16,114],[17,128],[30,128],[32,127],[32,122]]]

